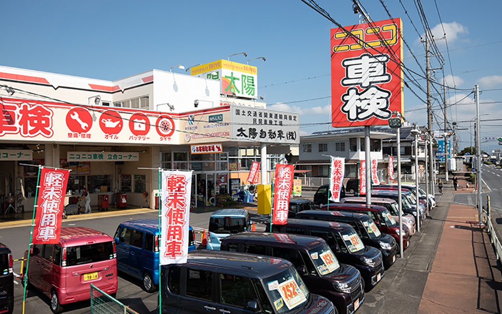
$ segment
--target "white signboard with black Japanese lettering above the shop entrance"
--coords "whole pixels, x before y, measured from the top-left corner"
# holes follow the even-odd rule
[[[230,135],[239,141],[300,144],[300,114],[230,106]]]

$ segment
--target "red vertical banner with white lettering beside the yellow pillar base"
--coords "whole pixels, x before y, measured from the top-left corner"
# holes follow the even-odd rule
[[[272,224],[285,225],[288,221],[289,198],[293,189],[295,165],[276,165],[274,184],[274,211]]]

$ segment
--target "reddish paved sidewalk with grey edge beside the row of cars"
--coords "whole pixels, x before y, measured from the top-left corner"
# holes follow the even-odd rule
[[[366,294],[357,314],[500,312],[502,278],[488,236],[468,223],[477,221],[473,206],[452,203],[454,193],[450,183],[436,195],[405,257]]]

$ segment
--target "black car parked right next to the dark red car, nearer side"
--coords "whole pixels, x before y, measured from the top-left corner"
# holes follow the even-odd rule
[[[299,219],[323,220],[349,224],[354,228],[364,245],[379,249],[384,259],[384,267],[388,269],[396,261],[398,245],[394,238],[380,232],[371,217],[366,214],[352,212],[308,211],[296,214]]]

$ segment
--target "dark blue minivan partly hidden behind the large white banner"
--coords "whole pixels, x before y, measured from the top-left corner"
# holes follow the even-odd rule
[[[159,284],[159,220],[138,219],[121,223],[115,231],[117,269],[143,281],[153,292]],[[195,250],[194,231],[189,227],[188,251]]]

